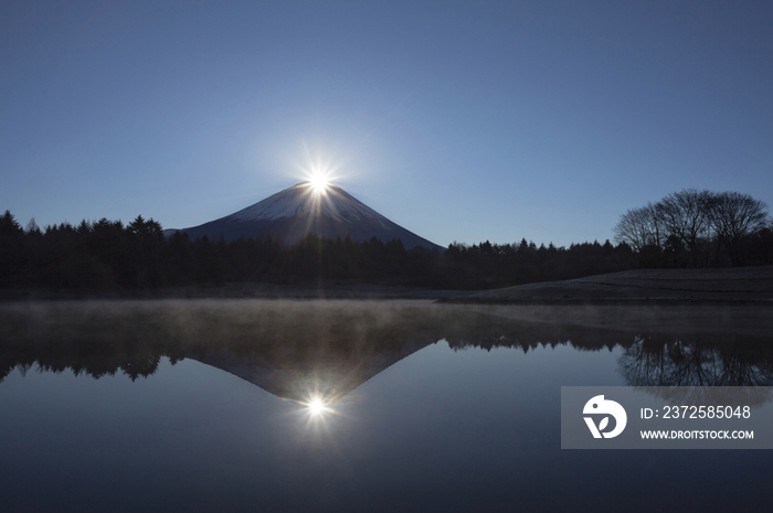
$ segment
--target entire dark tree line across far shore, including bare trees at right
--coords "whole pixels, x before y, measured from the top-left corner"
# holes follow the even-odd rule
[[[161,225],[102,218],[41,229],[0,216],[0,288],[151,290],[222,282],[351,281],[440,289],[487,289],[580,278],[646,267],[773,264],[766,205],[740,193],[685,190],[627,211],[606,241],[466,245],[445,252],[400,241],[308,235],[294,246],[271,236],[226,243],[184,233],[165,237]]]

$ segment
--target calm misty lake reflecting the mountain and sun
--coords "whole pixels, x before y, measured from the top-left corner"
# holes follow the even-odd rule
[[[0,507],[770,507],[769,451],[562,450],[560,416],[562,386],[773,385],[770,308],[536,309],[2,304]]]

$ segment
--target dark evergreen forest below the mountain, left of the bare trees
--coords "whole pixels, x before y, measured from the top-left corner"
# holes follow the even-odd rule
[[[0,217],[0,288],[112,291],[220,282],[352,281],[444,289],[483,289],[575,278],[632,268],[626,244],[451,244],[445,252],[400,241],[308,235],[295,246],[271,236],[226,243],[184,233],[165,237],[161,225],[138,216],[44,229]]]

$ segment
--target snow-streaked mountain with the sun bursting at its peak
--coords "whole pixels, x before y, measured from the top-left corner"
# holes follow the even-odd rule
[[[349,235],[356,242],[375,237],[384,243],[402,241],[406,249],[416,246],[443,249],[392,223],[340,186],[328,184],[322,190],[310,182],[298,183],[231,215],[180,232],[191,239],[207,235],[226,242],[271,235],[287,245],[303,241],[309,233],[328,238]]]

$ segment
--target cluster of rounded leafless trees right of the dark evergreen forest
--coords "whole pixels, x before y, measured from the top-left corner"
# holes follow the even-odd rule
[[[642,267],[773,264],[767,205],[749,194],[686,189],[628,210],[614,227]]]

